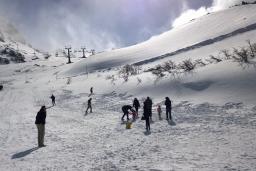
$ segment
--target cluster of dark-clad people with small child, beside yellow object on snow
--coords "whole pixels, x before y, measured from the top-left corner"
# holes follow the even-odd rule
[[[165,108],[166,108],[166,120],[169,121],[172,120],[172,102],[169,97],[165,98]],[[150,122],[152,121],[152,106],[153,102],[150,97],[147,97],[146,100],[143,102],[143,116],[142,120],[146,121],[146,130],[150,131]],[[134,108],[133,108],[134,107]],[[122,111],[123,111],[123,116],[122,116],[122,121],[124,121],[124,117],[126,116],[127,120],[129,120],[129,111],[133,115],[133,120],[138,118],[138,111],[140,108],[140,103],[137,98],[133,100],[133,106],[131,105],[124,105],[122,106]],[[135,109],[135,110],[134,110]],[[161,105],[157,106],[157,112],[158,112],[158,117],[159,120],[162,120],[162,109]]]

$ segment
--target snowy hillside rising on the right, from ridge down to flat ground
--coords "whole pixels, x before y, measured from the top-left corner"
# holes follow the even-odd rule
[[[243,101],[253,104],[256,102],[253,95],[256,83],[254,65],[243,70],[234,60],[228,60],[200,67],[192,74],[181,74],[178,78],[166,74],[161,79],[145,71],[169,60],[179,64],[185,59],[208,60],[210,55],[223,58],[221,51],[224,49],[231,52],[233,48],[245,47],[247,40],[255,43],[255,10],[256,5],[246,5],[208,14],[144,43],[84,59],[62,70],[60,76],[78,76],[88,72],[97,75],[100,72],[98,75],[102,77],[97,78],[96,87],[98,82],[106,82],[104,79],[112,76],[111,79],[117,81],[114,81],[115,85],[106,85],[108,91],[129,92],[140,97],[153,93],[157,100],[167,93],[177,100],[213,103]],[[118,78],[118,71],[125,64],[135,64],[140,68],[140,74],[130,77],[124,84]],[[107,82],[110,83],[111,79]],[[141,80],[139,85],[137,80]],[[241,83],[238,80],[244,81]],[[94,81],[89,82],[94,84]],[[77,88],[80,88],[79,85],[76,85]]]

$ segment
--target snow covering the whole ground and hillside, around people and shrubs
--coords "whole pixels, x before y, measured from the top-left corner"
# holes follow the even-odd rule
[[[143,72],[165,60],[206,58],[223,48],[243,46],[247,39],[255,42],[255,30],[143,63],[140,74],[128,82],[106,79],[117,74],[117,66],[246,28],[255,22],[255,8],[248,5],[210,14],[145,43],[73,59],[69,65],[67,59],[54,57],[1,65],[0,170],[256,170],[254,65],[226,60],[160,80]],[[176,34],[183,39],[175,41]],[[91,73],[84,74],[87,71]],[[93,113],[85,115],[92,86]],[[52,93],[57,105],[47,110],[46,147],[37,148],[35,116],[40,106],[50,106]],[[131,104],[134,97],[142,104],[147,96],[154,103],[151,133],[145,132],[140,119],[132,129],[125,129],[121,106]],[[173,122],[165,120],[164,112],[159,120],[156,113],[158,104],[165,110],[165,96],[173,101]]]

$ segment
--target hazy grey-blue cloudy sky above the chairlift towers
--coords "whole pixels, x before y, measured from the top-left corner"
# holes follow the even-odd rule
[[[96,51],[120,48],[170,30],[187,9],[212,0],[0,0],[8,18],[36,48],[65,45]]]

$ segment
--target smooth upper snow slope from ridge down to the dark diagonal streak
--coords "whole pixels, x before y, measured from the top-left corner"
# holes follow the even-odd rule
[[[246,5],[211,13],[162,35],[155,36],[144,43],[101,53],[93,58],[85,59],[68,70],[66,74],[77,75],[84,73],[85,65],[87,65],[87,70],[90,72],[127,63],[140,62],[139,64],[143,64],[143,62],[154,61],[156,57],[161,58],[162,55],[176,54],[180,51],[187,52],[219,41],[225,41],[230,37],[246,32],[253,32],[255,34],[255,11],[256,5]],[[240,39],[239,42],[236,42],[236,45],[244,44],[247,39],[253,41],[256,38],[255,36],[248,35]],[[231,46],[226,44],[226,46],[221,47],[221,49],[224,48],[231,48]],[[214,50],[218,51],[221,49],[215,48]]]

